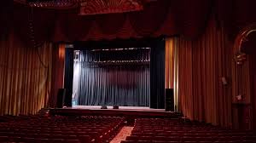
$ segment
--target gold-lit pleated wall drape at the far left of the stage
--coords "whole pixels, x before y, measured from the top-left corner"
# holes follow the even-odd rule
[[[35,114],[48,104],[51,43],[32,48],[14,32],[0,41],[0,115]]]

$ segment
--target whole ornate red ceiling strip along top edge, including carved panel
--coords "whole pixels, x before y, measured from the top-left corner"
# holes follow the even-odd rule
[[[157,0],[14,0],[15,3],[28,4],[35,8],[45,9],[79,9],[80,15],[111,14],[141,11],[146,3]]]

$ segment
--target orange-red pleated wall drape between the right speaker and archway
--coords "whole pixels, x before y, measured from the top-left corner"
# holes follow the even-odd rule
[[[210,20],[205,34],[196,40],[180,37],[177,44],[177,94],[185,117],[230,126],[232,49],[223,27]]]

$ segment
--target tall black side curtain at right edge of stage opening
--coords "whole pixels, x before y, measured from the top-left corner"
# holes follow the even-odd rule
[[[164,38],[154,41],[150,54],[150,108],[165,108],[165,47]]]

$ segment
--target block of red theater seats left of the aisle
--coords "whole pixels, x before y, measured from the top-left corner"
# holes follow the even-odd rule
[[[108,142],[124,120],[102,116],[20,117],[0,123],[0,142]]]

